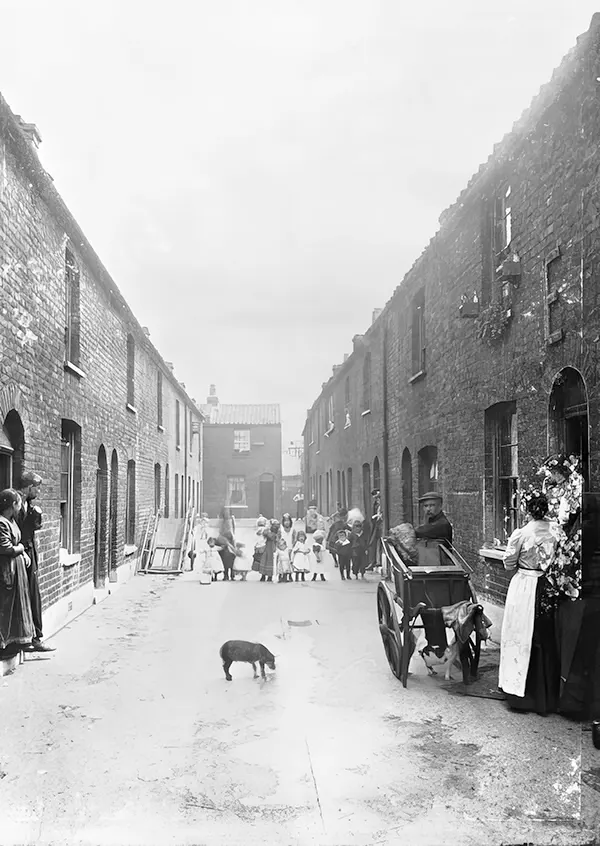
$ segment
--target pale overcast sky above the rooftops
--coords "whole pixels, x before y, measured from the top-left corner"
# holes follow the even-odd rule
[[[289,440],[597,5],[0,0],[0,90],[191,395]]]

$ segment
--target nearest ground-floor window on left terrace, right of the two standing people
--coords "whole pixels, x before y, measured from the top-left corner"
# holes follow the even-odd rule
[[[63,420],[60,445],[60,546],[79,552],[81,531],[81,429]]]

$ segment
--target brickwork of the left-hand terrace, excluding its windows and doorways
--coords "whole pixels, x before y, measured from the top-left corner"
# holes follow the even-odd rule
[[[116,455],[116,514],[111,550],[105,526],[96,582],[124,561],[127,462],[136,462],[135,542],[154,510],[154,465],[201,481],[199,436],[192,453],[177,450],[174,402],[199,423],[200,414],[66,212],[50,179],[28,149],[4,101],[0,132],[0,425],[16,412],[24,430],[24,464],[44,482],[38,533],[44,606],[94,578],[96,475],[106,455],[107,486]],[[65,367],[66,276],[69,248],[79,273],[80,356]],[[112,283],[112,290],[111,290]],[[135,343],[134,409],[127,401],[127,335]],[[163,428],[157,418],[157,370],[163,372]],[[75,552],[59,560],[61,421],[80,427],[81,486]],[[17,479],[13,480],[17,484]],[[194,488],[194,491],[196,489]],[[173,494],[171,492],[171,502]],[[104,515],[108,520],[109,506]],[[111,574],[111,578],[114,572]]]

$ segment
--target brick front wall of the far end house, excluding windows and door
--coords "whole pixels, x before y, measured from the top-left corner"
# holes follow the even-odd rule
[[[244,477],[246,508],[233,508],[238,517],[258,517],[260,512],[260,477],[271,474],[275,484],[274,515],[281,515],[281,426],[204,425],[204,508],[217,517],[225,505],[227,477]],[[250,452],[236,453],[233,433],[250,430]]]

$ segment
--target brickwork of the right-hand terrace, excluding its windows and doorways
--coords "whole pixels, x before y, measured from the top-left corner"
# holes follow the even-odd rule
[[[353,406],[350,430],[338,431],[336,424],[319,454],[317,445],[310,446],[311,418],[329,393],[337,397],[348,374],[355,382],[360,378],[363,353],[358,348],[323,386],[307,418],[306,484],[314,474],[353,461],[355,495],[357,470],[381,451],[385,424],[391,525],[403,519],[406,504],[404,450],[410,451],[415,522],[420,522],[417,456],[425,446],[437,447],[435,484],[454,524],[456,546],[476,569],[479,588],[499,601],[506,593],[507,576],[500,562],[478,553],[494,537],[485,507],[486,409],[498,402],[516,403],[518,470],[526,484],[548,452],[560,445],[549,416],[556,376],[563,368],[578,371],[589,408],[589,485],[592,490],[600,487],[600,206],[595,200],[600,169],[599,26],[595,16],[552,83],[442,216],[440,231],[367,332],[365,338],[374,349],[381,350],[385,343],[387,351],[385,421],[380,381],[371,420],[357,417]],[[521,263],[514,284],[504,284],[495,273],[497,259],[491,255],[490,209],[507,185],[512,224],[507,255],[516,253]],[[551,290],[558,296],[548,327],[546,297]],[[412,312],[420,291],[425,295],[426,372],[412,379]],[[480,314],[462,317],[462,298],[472,300],[474,292]],[[491,346],[478,337],[483,308],[490,302],[511,312],[504,334]],[[374,354],[374,364],[376,358]],[[381,357],[377,360],[382,365]]]

